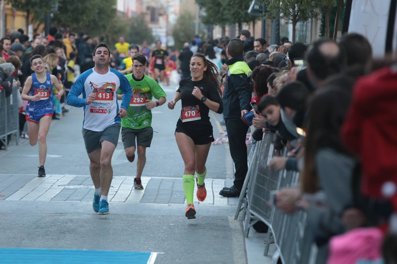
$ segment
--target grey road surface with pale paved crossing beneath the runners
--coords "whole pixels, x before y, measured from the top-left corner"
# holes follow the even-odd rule
[[[169,101],[176,88],[165,90]],[[178,107],[180,104],[175,109]],[[96,215],[91,208],[93,185],[81,135],[81,108],[71,108],[62,120],[52,123],[47,138],[47,177],[36,177],[38,146],[22,140],[19,146],[0,152],[2,260],[7,262],[12,255],[30,256],[22,248],[35,248],[100,250],[62,251],[75,258],[81,252],[98,256],[103,251],[142,252],[132,262],[134,257],[129,256],[127,263],[141,263],[138,259],[156,264],[247,263],[241,222],[232,217],[237,198],[218,194],[232,184],[228,146],[211,147],[207,161],[208,198],[200,204],[195,198],[197,218],[187,220],[181,183],[183,161],[173,135],[179,111],[164,105],[155,108],[153,116],[153,128],[158,133],[154,133],[152,147],[147,151],[145,190],[133,189],[136,162],[126,160],[119,141],[112,159],[111,214],[106,216]],[[222,129],[218,122],[221,119],[212,115],[215,137]],[[29,259],[35,263],[35,256],[44,251],[32,252]],[[149,255],[151,259],[146,260]],[[106,262],[121,263],[116,257],[109,257]]]

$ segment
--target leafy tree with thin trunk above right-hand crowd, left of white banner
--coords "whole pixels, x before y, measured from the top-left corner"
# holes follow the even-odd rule
[[[292,24],[292,42],[295,43],[296,25],[319,17],[312,0],[263,0],[266,3],[266,19],[285,19]],[[262,3],[263,3],[262,1]]]

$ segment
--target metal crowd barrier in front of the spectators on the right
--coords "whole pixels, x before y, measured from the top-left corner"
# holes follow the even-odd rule
[[[306,227],[306,213],[298,211],[287,215],[274,206],[268,206],[272,191],[296,186],[299,173],[294,171],[270,170],[270,160],[276,154],[274,150],[275,134],[265,133],[262,141],[256,142],[249,155],[249,170],[239,198],[235,219],[243,211],[242,219],[247,217],[244,234],[249,236],[252,225],[258,221],[269,227],[266,235],[264,255],[269,255],[269,246],[275,243],[273,258],[280,258],[284,264],[309,263],[310,245],[304,245],[303,236]],[[284,155],[287,151],[284,150]],[[305,247],[305,248],[304,248]],[[309,247],[309,248],[307,248]]]

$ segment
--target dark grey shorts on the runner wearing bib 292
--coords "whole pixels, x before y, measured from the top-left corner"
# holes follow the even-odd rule
[[[153,139],[153,128],[145,127],[141,129],[132,129],[129,127],[121,127],[121,140],[123,141],[124,149],[135,147],[135,137],[137,138],[137,145],[150,147]]]

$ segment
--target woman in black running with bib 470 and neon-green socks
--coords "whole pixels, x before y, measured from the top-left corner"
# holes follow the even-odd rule
[[[183,190],[185,191],[187,219],[196,218],[193,205],[195,172],[197,173],[197,199],[204,201],[207,196],[204,179],[207,173],[205,163],[211,142],[214,141],[212,125],[208,113],[210,110],[222,114],[221,87],[218,82],[218,68],[201,53],[190,59],[191,78],[179,82],[173,100],[168,108],[174,109],[181,100],[181,116],[175,129],[175,139],[185,163],[183,172]]]

